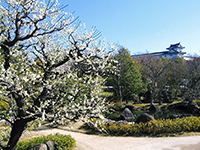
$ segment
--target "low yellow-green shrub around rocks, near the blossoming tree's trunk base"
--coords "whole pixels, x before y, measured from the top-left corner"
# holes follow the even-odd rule
[[[56,133],[55,135],[47,135],[19,141],[17,144],[17,150],[24,150],[29,146],[46,143],[48,141],[54,141],[57,150],[71,150],[76,146],[76,141],[70,135]]]

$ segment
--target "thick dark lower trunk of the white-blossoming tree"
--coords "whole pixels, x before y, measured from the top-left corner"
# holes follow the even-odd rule
[[[19,141],[25,127],[27,125],[27,120],[18,119],[14,122],[12,126],[12,131],[10,134],[10,139],[8,141],[7,147],[4,150],[15,150],[17,142]]]

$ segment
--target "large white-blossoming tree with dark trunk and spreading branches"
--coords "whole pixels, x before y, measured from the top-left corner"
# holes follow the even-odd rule
[[[79,32],[79,21],[63,8],[51,0],[0,2],[0,100],[9,107],[0,120],[11,127],[7,146],[0,145],[4,150],[15,149],[31,121],[63,123],[104,110],[98,87],[111,70],[111,53],[96,44],[97,30]]]

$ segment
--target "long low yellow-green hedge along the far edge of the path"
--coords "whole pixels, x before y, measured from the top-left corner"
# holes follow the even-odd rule
[[[160,119],[139,124],[102,124],[110,135],[156,136],[168,133],[200,132],[200,117],[186,117],[177,119]]]

